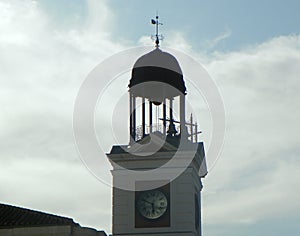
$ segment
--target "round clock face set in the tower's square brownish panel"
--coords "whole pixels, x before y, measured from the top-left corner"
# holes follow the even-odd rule
[[[167,210],[168,200],[159,190],[143,192],[137,200],[139,213],[147,219],[157,219]]]

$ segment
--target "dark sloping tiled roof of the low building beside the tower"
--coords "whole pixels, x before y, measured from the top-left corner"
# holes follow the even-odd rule
[[[0,228],[54,225],[79,226],[71,218],[0,204]]]

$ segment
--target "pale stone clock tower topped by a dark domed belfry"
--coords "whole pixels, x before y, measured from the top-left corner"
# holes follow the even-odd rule
[[[186,121],[179,63],[158,42],[132,69],[129,143],[107,154],[113,166],[114,236],[201,235],[204,146],[192,117]]]

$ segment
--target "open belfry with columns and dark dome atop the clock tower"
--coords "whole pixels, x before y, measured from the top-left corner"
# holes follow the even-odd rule
[[[175,123],[179,124],[180,133],[185,134],[185,95],[186,87],[181,68],[175,57],[156,48],[139,58],[133,66],[132,78],[129,83],[131,143],[154,131],[160,131],[168,136],[176,136],[178,131]],[[141,99],[142,107],[140,124],[136,122],[138,98]],[[179,103],[179,122],[173,119],[175,100]],[[146,106],[149,107],[148,117],[146,117]],[[157,126],[159,125],[157,121],[155,125],[153,123],[153,108],[156,109],[156,113],[159,108],[162,108],[162,118],[159,118],[162,121],[160,127]],[[167,116],[169,116],[168,119]]]

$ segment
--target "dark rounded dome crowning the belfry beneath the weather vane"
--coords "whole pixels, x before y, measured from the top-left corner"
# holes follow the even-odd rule
[[[163,93],[159,96],[161,98],[175,97],[186,92],[182,71],[176,58],[158,48],[136,61],[132,69],[129,88],[137,96],[153,98],[152,92],[158,93],[157,89],[162,90],[162,88],[153,87],[153,83],[147,82],[160,82],[168,87],[167,90],[160,91]],[[136,87],[132,88],[133,86]]]

